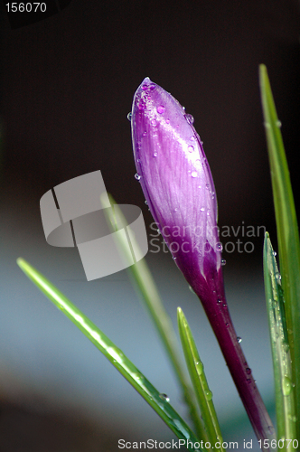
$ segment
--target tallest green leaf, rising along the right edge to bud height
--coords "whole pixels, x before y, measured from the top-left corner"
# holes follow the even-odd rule
[[[261,99],[265,119],[267,150],[271,169],[277,240],[282,286],[286,299],[286,325],[291,347],[293,381],[295,382],[296,416],[300,415],[300,242],[292,185],[285,148],[280,132],[281,123],[267,77],[267,68],[259,67]],[[297,422],[300,441],[300,422]]]

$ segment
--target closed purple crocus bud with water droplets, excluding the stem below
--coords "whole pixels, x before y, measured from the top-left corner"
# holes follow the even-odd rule
[[[145,200],[193,290],[223,297],[217,200],[211,169],[193,118],[164,89],[145,79],[132,108],[136,178]],[[219,276],[218,276],[219,274]]]

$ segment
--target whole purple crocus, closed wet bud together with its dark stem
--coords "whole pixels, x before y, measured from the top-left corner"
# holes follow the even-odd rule
[[[136,179],[149,209],[176,265],[202,301],[258,439],[273,438],[274,428],[230,319],[215,188],[193,118],[146,78],[136,90],[131,127]]]

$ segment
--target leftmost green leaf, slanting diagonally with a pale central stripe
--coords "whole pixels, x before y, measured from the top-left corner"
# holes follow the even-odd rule
[[[198,438],[194,435],[191,428],[184,422],[179,414],[173,410],[164,394],[159,391],[148,381],[142,372],[136,369],[136,366],[128,360],[122,351],[108,339],[98,326],[93,324],[89,318],[84,315],[78,307],[73,305],[70,300],[65,297],[60,290],[53,286],[52,283],[42,276],[35,268],[33,268],[24,259],[17,259],[20,268],[23,269],[25,275],[30,278],[33,283],[42,290],[43,294],[48,297],[52,303],[57,306],[64,315],[70,318],[80,331],[85,334],[91,343],[96,345],[98,350],[103,353],[110,363],[112,363],[118,372],[120,372],[127,381],[136,389],[136,391],[145,399],[145,401],[155,410],[155,412],[164,420],[166,425],[171,428],[173,433],[184,441],[184,445],[188,450],[197,452]],[[187,443],[189,440],[189,443]],[[198,443],[198,444],[197,444]],[[193,445],[196,444],[196,447]]]

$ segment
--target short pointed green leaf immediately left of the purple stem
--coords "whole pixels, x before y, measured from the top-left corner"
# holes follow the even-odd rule
[[[208,439],[212,448],[218,448],[218,450],[224,452],[225,449],[222,446],[223,439],[220,433],[220,425],[212,402],[212,392],[209,389],[205,377],[203,364],[192,337],[192,331],[180,307],[177,309],[177,318],[185,361],[190,372]]]

